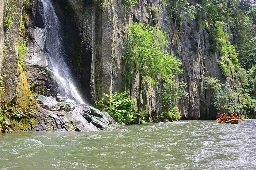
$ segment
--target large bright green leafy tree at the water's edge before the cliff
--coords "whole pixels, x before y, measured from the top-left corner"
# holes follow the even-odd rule
[[[142,23],[128,26],[128,51],[124,60],[128,62],[127,78],[134,84],[139,77],[138,115],[140,115],[140,95],[144,78],[150,77],[153,85],[158,78],[169,84],[175,81],[175,74],[181,73],[180,60],[170,55],[165,34],[157,26],[151,27]],[[138,120],[139,116],[138,116]]]

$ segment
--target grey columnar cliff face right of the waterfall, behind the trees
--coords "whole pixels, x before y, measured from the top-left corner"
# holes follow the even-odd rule
[[[127,90],[122,84],[125,66],[122,55],[125,53],[127,39],[126,28],[133,22],[158,24],[168,32],[170,23],[168,7],[159,5],[158,0],[139,0],[134,7],[122,4],[121,0],[111,0],[106,7],[97,3],[68,1],[68,9],[74,11],[73,19],[83,35],[83,40],[91,49],[91,97],[96,99],[102,93],[113,94],[115,91]],[[191,1],[191,3],[200,3]],[[159,6],[159,16],[150,13],[149,7]],[[178,104],[179,111],[185,119],[209,119],[214,116],[210,111],[210,94],[203,90],[202,76],[210,75],[221,79],[221,71],[217,64],[218,56],[207,51],[209,47],[208,33],[197,20],[189,20],[179,27],[183,34],[176,36],[173,54],[181,59],[184,73],[178,76],[187,83],[188,98]],[[88,57],[88,56],[86,56]],[[138,84],[138,80],[137,80]],[[161,111],[160,86],[153,88],[144,83],[145,93],[142,103],[153,114]],[[132,96],[138,97],[138,86],[133,87]]]

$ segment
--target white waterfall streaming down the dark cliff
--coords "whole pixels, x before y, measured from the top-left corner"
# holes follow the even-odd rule
[[[59,94],[62,98],[75,100],[83,104],[84,100],[79,94],[78,85],[72,72],[64,60],[65,50],[62,47],[60,21],[54,11],[50,0],[42,0],[44,6],[44,22],[46,23],[46,54],[49,59],[49,69],[59,85]]]

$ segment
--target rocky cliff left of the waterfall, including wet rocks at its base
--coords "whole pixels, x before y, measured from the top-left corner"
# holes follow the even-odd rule
[[[23,8],[22,0],[0,1],[0,73],[3,75],[1,88],[4,88],[0,91],[0,133],[91,131],[116,127],[108,113],[58,98],[59,87],[48,68],[42,1],[35,0],[33,3],[33,7],[28,5]],[[12,24],[6,29],[4,19],[10,5],[14,7],[10,17]],[[22,21],[26,34],[19,32]],[[23,70],[18,62],[18,40],[22,42],[26,39],[29,39],[29,50],[22,54]]]

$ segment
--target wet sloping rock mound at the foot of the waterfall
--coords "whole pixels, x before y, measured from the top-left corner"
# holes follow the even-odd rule
[[[33,131],[95,131],[116,128],[118,125],[107,112],[86,104],[57,103],[43,109],[37,106]]]

